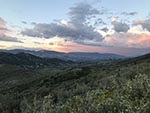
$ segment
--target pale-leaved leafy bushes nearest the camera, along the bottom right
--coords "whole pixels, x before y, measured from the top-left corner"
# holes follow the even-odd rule
[[[150,78],[139,74],[122,87],[114,79],[112,90],[97,89],[55,103],[53,96],[24,103],[23,113],[148,113],[150,110]]]

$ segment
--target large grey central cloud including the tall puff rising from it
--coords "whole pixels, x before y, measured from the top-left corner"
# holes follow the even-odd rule
[[[89,44],[89,41],[97,42],[103,40],[102,35],[93,26],[85,24],[88,17],[97,14],[99,14],[99,11],[91,5],[80,3],[70,8],[70,20],[62,19],[50,24],[35,24],[34,28],[25,29],[21,33],[41,38],[53,38],[57,36],[65,40]]]

